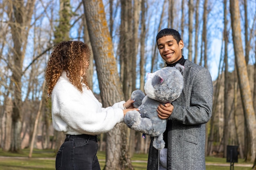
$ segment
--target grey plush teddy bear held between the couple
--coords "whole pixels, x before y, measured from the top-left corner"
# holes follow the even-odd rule
[[[167,119],[157,116],[157,106],[171,103],[182,93],[184,66],[176,64],[175,67],[164,67],[147,75],[144,86],[145,94],[141,90],[132,92],[131,99],[135,99],[133,106],[139,108],[126,113],[125,124],[136,131],[154,137],[153,146],[160,150],[164,148],[163,133],[166,129]]]

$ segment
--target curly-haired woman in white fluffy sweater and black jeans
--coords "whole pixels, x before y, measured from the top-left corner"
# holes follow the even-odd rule
[[[57,44],[49,58],[45,79],[47,100],[52,96],[52,123],[66,135],[56,170],[100,170],[97,134],[110,131],[124,121],[126,112],[137,110],[131,99],[102,108],[86,80],[89,58],[88,45],[79,41]]]

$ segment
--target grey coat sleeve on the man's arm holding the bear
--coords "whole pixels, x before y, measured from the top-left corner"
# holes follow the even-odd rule
[[[200,67],[186,78],[184,96],[172,102],[174,109],[169,119],[182,124],[205,124],[212,115],[213,84],[208,69]]]

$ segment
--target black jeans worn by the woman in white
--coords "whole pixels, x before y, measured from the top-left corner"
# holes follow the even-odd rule
[[[101,170],[97,136],[66,135],[56,156],[56,170]]]

